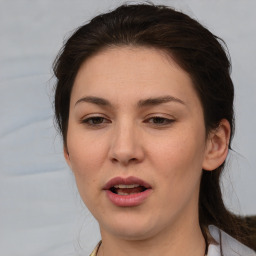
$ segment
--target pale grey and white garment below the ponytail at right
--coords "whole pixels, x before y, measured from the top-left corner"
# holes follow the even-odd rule
[[[256,256],[256,252],[243,245],[224,231],[210,225],[209,231],[217,244],[210,244],[208,256],[220,256],[221,249],[224,256]],[[222,247],[220,248],[220,243]]]

